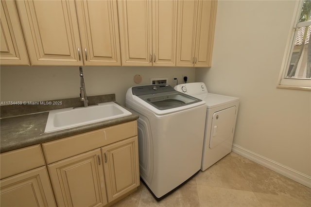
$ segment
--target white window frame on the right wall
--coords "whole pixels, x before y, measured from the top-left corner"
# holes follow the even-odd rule
[[[292,22],[291,22],[291,29],[289,31],[287,44],[285,47],[284,57],[281,65],[281,71],[278,80],[279,88],[293,88],[293,89],[303,89],[303,90],[311,90],[311,80],[310,79],[289,79],[285,78],[285,74],[288,71],[288,67],[291,64],[292,52],[294,51],[294,41],[296,36],[296,27],[300,26],[301,23],[298,23],[298,19],[300,17],[302,5],[304,0],[296,1],[294,11],[295,15],[293,15]],[[310,44],[310,43],[309,43]],[[309,47],[309,46],[308,46]]]

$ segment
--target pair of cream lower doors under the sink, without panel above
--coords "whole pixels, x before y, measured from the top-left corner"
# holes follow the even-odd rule
[[[57,206],[97,207],[139,186],[138,138],[48,165]]]

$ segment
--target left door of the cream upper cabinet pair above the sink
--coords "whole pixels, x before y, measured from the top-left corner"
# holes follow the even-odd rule
[[[16,2],[32,65],[83,65],[74,1]]]

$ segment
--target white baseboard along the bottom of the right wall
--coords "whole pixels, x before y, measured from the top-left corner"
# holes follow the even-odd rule
[[[232,145],[232,152],[241,155],[243,157],[246,157],[266,168],[269,168],[276,173],[280,173],[304,186],[307,186],[308,188],[311,188],[311,176],[306,175],[304,173],[300,173],[294,169],[291,169],[289,167],[286,167],[285,165],[279,164],[276,161],[273,161],[269,158],[266,158],[264,156],[261,156],[257,153],[254,153],[252,151],[249,151],[239,145],[233,144]]]

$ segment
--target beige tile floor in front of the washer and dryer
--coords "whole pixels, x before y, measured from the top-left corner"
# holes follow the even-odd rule
[[[311,189],[230,153],[159,202],[140,182],[113,207],[311,207]]]

